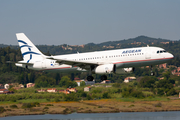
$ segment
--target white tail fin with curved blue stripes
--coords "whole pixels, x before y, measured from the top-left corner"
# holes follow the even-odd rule
[[[17,33],[16,37],[23,59],[27,63],[30,61],[40,60],[45,56],[37,49],[37,47],[27,38],[24,33]]]

